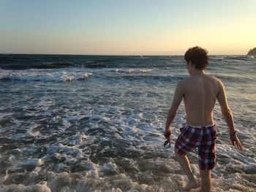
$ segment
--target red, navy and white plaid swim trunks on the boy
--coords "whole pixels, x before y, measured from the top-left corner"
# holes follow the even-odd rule
[[[186,123],[180,130],[181,134],[175,143],[175,149],[178,154],[186,155],[198,147],[200,169],[214,169],[217,164],[216,125],[191,126]]]

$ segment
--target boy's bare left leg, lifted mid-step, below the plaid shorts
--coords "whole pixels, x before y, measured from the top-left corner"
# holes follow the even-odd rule
[[[184,190],[197,188],[197,183],[190,169],[189,159],[187,158],[187,155],[178,155],[178,152],[176,150],[175,154],[179,164],[181,164],[181,168],[184,170],[184,172],[187,174],[187,177],[189,178],[189,182],[184,187]]]

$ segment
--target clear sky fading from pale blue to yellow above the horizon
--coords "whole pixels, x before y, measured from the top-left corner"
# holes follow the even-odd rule
[[[0,0],[0,53],[246,54],[256,0]]]

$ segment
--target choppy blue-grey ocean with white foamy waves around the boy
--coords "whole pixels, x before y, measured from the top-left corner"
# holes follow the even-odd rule
[[[163,146],[183,56],[0,55],[0,191],[178,191],[184,103]],[[225,84],[239,151],[217,103],[213,191],[256,191],[256,58],[210,55]],[[188,155],[200,180],[197,150]]]

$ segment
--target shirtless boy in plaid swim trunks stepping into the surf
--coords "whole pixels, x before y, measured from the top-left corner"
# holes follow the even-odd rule
[[[233,115],[227,105],[223,83],[217,77],[212,77],[203,71],[208,64],[207,51],[201,47],[189,48],[185,53],[185,60],[190,77],[181,80],[176,86],[173,102],[167,115],[164,135],[170,141],[170,124],[176,116],[182,98],[184,98],[187,123],[181,128],[181,134],[175,144],[176,158],[189,179],[184,190],[197,188],[187,158],[187,153],[197,147],[201,177],[200,191],[211,191],[211,169],[214,169],[217,162],[217,128],[213,118],[216,99],[230,130],[232,144],[236,143],[239,150],[243,150],[243,147],[236,136]]]

